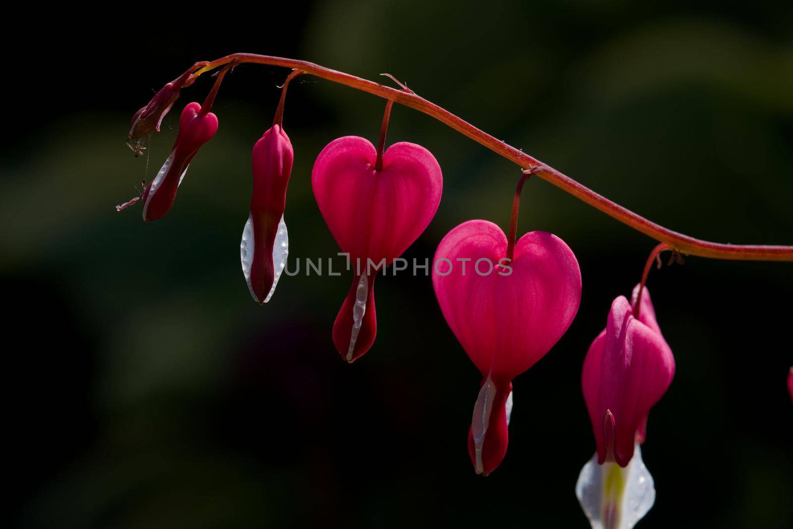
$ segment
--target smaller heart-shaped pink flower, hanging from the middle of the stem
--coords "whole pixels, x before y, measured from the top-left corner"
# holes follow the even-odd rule
[[[379,157],[369,140],[345,136],[320,152],[312,186],[328,228],[355,270],[333,324],[337,351],[353,362],[369,350],[377,332],[377,266],[399,257],[435,216],[441,168],[419,145],[393,144]]]

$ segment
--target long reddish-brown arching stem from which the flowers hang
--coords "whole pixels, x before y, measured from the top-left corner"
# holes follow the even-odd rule
[[[486,148],[495,152],[500,156],[510,160],[519,167],[526,169],[534,169],[534,174],[542,178],[546,182],[550,182],[557,186],[559,189],[566,193],[572,194],[579,200],[586,202],[588,205],[596,209],[600,209],[610,217],[619,220],[623,224],[627,224],[638,232],[644,233],[655,240],[667,243],[670,247],[680,251],[681,253],[689,255],[699,255],[700,257],[709,257],[711,259],[741,259],[749,261],[793,261],[793,246],[764,246],[764,245],[739,245],[739,244],[723,244],[712,243],[707,240],[699,240],[694,237],[683,235],[682,233],[674,232],[668,228],[664,228],[660,224],[655,224],[646,218],[637,215],[630,211],[630,209],[623,208],[619,204],[615,204],[608,200],[606,197],[597,194],[595,191],[590,190],[588,187],[581,185],[579,182],[573,180],[569,176],[562,174],[553,167],[540,162],[538,159],[532,158],[523,151],[512,147],[490,136],[488,133],[474,127],[470,123],[450,113],[446,109],[442,109],[435,103],[429,102],[419,95],[408,93],[404,90],[397,90],[389,86],[378,84],[367,79],[361,79],[354,75],[346,74],[343,71],[331,70],[320,66],[319,64],[309,63],[305,60],[285,59],[283,57],[263,56],[254,53],[235,53],[230,56],[225,56],[221,59],[214,60],[207,63],[201,69],[195,71],[190,79],[185,83],[185,86],[190,86],[195,79],[207,72],[215,69],[216,67],[223,66],[224,64],[236,61],[236,63],[257,63],[267,64],[270,66],[278,66],[285,68],[297,68],[306,74],[315,75],[322,79],[327,79],[331,82],[338,82],[345,86],[350,86],[356,90],[362,90],[377,97],[389,99],[390,101],[397,102],[400,105],[408,106],[416,109],[419,112],[427,114],[427,116],[434,117],[436,120],[454,128],[457,132],[468,136],[471,140],[484,145]]]

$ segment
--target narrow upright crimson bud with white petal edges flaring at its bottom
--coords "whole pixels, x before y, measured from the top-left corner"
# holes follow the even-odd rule
[[[239,257],[251,296],[270,301],[289,255],[284,222],[286,186],[294,151],[281,125],[273,125],[253,147],[251,214],[239,243]]]

